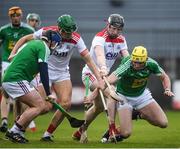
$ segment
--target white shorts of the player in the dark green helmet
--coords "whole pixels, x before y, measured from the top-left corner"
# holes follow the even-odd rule
[[[50,85],[55,82],[61,82],[64,80],[70,80],[69,70],[62,70],[62,71],[52,71],[48,70],[49,72],[49,83]]]

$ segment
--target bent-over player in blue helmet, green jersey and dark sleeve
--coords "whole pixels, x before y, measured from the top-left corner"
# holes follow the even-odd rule
[[[41,40],[29,41],[19,49],[3,76],[4,94],[29,106],[5,135],[13,142],[27,143],[24,132],[29,123],[52,108],[52,105],[30,86],[30,82],[40,73],[47,98],[54,99],[50,93],[47,59],[60,42],[59,33],[44,32]]]

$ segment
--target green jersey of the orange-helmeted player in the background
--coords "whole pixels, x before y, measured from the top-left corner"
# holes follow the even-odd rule
[[[21,23],[20,27],[13,27],[12,24],[2,26],[0,28],[0,43],[2,44],[2,61],[9,62],[8,57],[16,42],[21,37],[31,34],[33,32],[34,29],[26,23]]]

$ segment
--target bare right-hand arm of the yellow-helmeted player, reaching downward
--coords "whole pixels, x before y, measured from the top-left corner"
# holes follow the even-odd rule
[[[170,97],[174,96],[174,93],[171,91],[171,81],[169,79],[169,76],[165,72],[163,72],[159,77],[160,80],[162,81],[164,94]]]

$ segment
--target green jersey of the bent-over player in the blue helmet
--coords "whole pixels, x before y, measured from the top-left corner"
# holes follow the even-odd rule
[[[42,40],[24,44],[13,58],[3,76],[3,82],[32,81],[39,73],[39,62],[47,62],[50,50]]]

